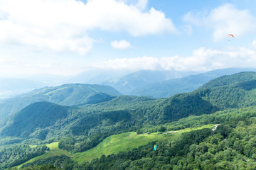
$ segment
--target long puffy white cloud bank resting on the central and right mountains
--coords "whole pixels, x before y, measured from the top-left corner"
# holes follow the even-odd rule
[[[228,67],[256,67],[256,51],[245,47],[212,50],[201,47],[188,57],[137,57],[92,63],[87,67],[97,69],[165,69],[178,71],[209,71]]]

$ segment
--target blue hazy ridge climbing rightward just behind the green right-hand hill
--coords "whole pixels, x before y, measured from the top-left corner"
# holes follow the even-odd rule
[[[198,89],[198,87],[202,86],[211,79],[215,79],[216,77],[245,71],[256,71],[256,69],[216,69],[202,74],[190,75],[188,77],[182,77],[178,79],[170,79],[167,81],[161,81],[156,84],[149,84],[143,86],[142,88],[134,89],[134,91],[131,91],[130,94],[135,96],[151,96],[154,98],[166,98],[173,96],[174,94],[194,91]]]

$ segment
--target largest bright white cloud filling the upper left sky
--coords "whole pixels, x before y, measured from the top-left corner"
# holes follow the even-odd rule
[[[0,43],[25,45],[36,50],[55,52],[90,52],[93,29],[125,31],[134,36],[176,28],[163,12],[146,7],[146,0],[137,5],[118,0],[0,0]]]

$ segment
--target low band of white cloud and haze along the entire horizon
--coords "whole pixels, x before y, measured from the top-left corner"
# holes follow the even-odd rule
[[[16,53],[18,52],[19,50],[16,51]],[[0,53],[0,76],[31,73],[70,75],[78,74],[85,69],[114,69],[117,71],[153,69],[206,72],[228,67],[256,67],[256,50],[245,47],[228,47],[225,50],[201,47],[194,50],[187,57],[178,55],[161,58],[144,56],[94,63],[87,63],[86,60],[82,60],[83,57],[80,57],[78,62],[74,59],[63,60],[63,57],[50,55],[29,56],[27,60],[23,60],[25,54],[20,53],[21,57],[19,59]]]

